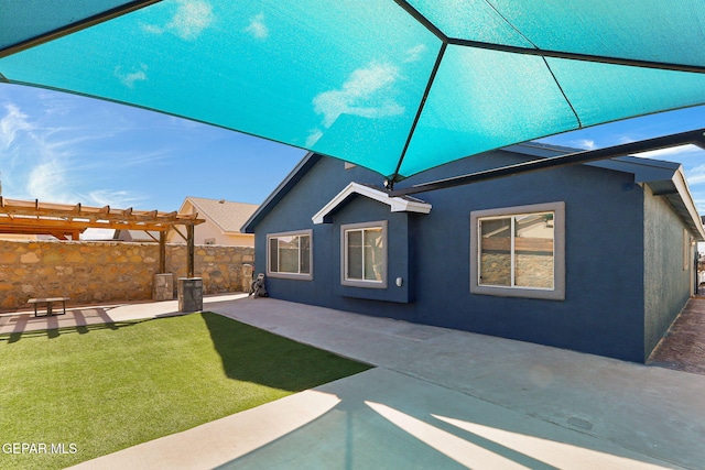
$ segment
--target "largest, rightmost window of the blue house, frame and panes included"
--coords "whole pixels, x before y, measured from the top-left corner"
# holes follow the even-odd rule
[[[470,292],[565,298],[564,204],[470,214]]]

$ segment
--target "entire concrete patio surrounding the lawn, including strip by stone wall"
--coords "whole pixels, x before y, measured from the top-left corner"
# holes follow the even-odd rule
[[[206,297],[204,308],[377,368],[76,468],[698,469],[705,461],[705,375],[242,297]],[[105,315],[175,310],[165,302]],[[21,336],[7,318],[0,331]],[[45,321],[64,321],[56,318]]]

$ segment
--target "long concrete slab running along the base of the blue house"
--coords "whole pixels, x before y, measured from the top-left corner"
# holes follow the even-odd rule
[[[275,299],[216,311],[646,456],[705,462],[703,375]]]

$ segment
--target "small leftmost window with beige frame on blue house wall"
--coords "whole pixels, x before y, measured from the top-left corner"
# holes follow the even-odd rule
[[[267,274],[311,281],[312,230],[272,233],[267,236]]]

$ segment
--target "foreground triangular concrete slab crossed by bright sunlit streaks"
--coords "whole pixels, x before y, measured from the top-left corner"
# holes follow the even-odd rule
[[[677,468],[373,369],[74,469]]]

